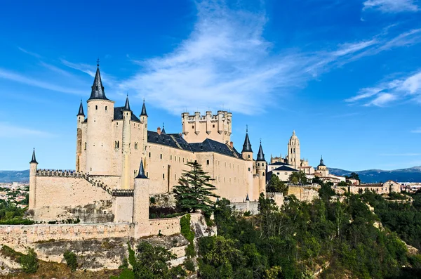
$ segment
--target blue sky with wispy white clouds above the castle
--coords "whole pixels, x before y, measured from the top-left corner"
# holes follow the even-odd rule
[[[107,97],[149,127],[233,112],[255,151],[348,170],[421,165],[421,1],[7,1],[0,11],[0,169],[74,169],[96,59]],[[152,128],[153,127],[153,128]]]

